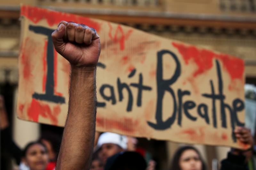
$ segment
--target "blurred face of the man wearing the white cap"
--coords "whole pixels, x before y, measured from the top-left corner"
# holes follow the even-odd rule
[[[116,144],[102,144],[99,152],[99,158],[105,165],[107,162],[107,159],[116,153],[122,152],[123,149],[116,145]]]

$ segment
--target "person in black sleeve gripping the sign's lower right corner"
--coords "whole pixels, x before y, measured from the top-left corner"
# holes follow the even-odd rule
[[[226,159],[221,161],[220,170],[249,170],[254,169],[250,165],[253,154],[253,138],[251,130],[245,127],[238,127],[234,131],[238,142],[249,146],[246,150],[231,148]]]

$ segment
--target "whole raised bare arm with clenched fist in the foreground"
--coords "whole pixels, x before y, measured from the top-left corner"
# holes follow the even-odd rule
[[[56,51],[71,64],[68,116],[56,169],[90,169],[95,137],[95,74],[100,39],[91,28],[61,21],[52,33],[52,41]]]

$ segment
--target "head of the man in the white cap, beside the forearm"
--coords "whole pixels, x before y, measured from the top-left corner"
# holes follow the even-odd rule
[[[105,132],[100,135],[97,147],[99,148],[99,158],[105,165],[109,157],[127,149],[127,137]]]

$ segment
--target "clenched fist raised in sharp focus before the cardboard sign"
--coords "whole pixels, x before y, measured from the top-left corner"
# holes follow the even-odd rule
[[[52,33],[56,51],[72,66],[94,67],[100,56],[100,37],[95,29],[74,22],[61,21]]]

